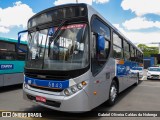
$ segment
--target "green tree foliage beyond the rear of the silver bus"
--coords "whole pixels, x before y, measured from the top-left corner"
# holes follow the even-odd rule
[[[145,44],[139,44],[138,48],[143,51],[144,57],[150,57],[151,54],[158,54],[158,47],[148,47]]]

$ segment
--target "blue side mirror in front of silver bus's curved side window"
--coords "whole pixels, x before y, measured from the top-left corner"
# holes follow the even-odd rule
[[[102,35],[97,35],[97,50],[101,51],[105,49],[105,38]]]

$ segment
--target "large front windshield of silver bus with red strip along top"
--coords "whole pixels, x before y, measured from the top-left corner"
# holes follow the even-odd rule
[[[44,70],[74,70],[89,63],[87,24],[63,25],[58,34],[51,27],[28,34],[26,68]]]

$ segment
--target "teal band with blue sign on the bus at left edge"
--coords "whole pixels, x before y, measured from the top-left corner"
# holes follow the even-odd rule
[[[22,73],[24,61],[0,60],[0,74]]]

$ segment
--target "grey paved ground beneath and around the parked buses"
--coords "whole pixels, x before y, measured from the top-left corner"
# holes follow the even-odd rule
[[[0,110],[7,111],[50,111],[55,119],[69,118],[78,119],[76,114],[65,114],[54,110],[49,110],[38,106],[31,102],[25,101],[22,98],[22,89],[20,86],[12,86],[0,88]],[[160,111],[160,81],[140,81],[138,86],[132,86],[119,95],[117,103],[109,107],[102,104],[93,111]],[[92,114],[88,113],[88,114]],[[72,117],[70,117],[72,116]],[[1,120],[2,118],[0,118]],[[82,118],[80,118],[82,119]],[[98,120],[125,120],[129,118],[124,117],[83,117],[83,119],[98,119]],[[145,119],[149,118],[130,118]],[[154,118],[154,119],[160,119]],[[2,120],[5,120],[4,118]],[[8,119],[6,119],[8,120]],[[14,120],[12,118],[12,120]],[[17,119],[15,119],[17,120]]]

